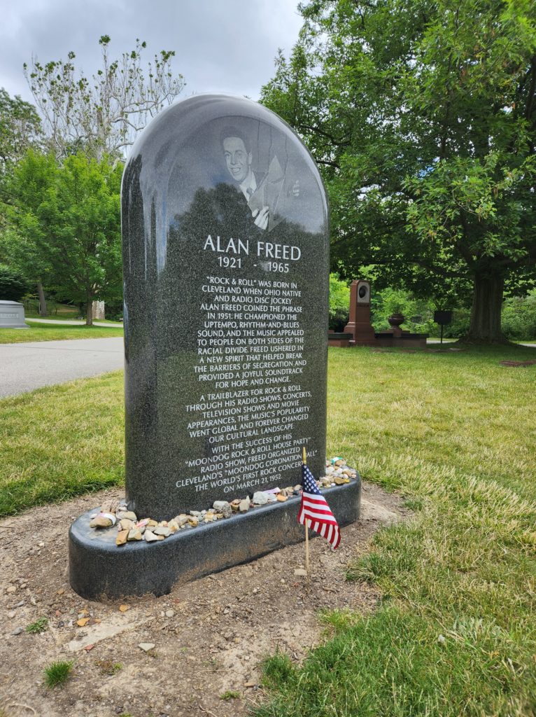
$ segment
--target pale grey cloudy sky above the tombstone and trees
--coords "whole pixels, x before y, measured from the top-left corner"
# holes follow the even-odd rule
[[[133,49],[147,57],[173,49],[173,70],[186,80],[182,97],[230,92],[259,97],[274,57],[291,49],[301,27],[297,0],[0,0],[0,87],[32,101],[22,72],[32,55],[42,64],[76,54],[86,75],[100,60],[99,37],[110,35],[110,57]]]

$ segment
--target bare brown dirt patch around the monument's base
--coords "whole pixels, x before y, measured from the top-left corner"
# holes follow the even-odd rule
[[[373,609],[375,591],[345,581],[345,568],[368,549],[378,527],[408,514],[398,495],[363,485],[362,518],[343,528],[338,551],[320,538],[311,541],[308,589],[294,574],[305,559],[297,545],[176,587],[166,597],[87,602],[70,589],[67,531],[80,513],[119,496],[107,491],[0,521],[0,708],[6,716],[246,715],[248,704],[262,699],[262,657],[279,647],[302,660],[322,640],[322,608]],[[26,632],[41,617],[48,629]],[[155,647],[144,652],[142,642]],[[72,678],[48,690],[43,670],[59,660],[74,662]],[[221,700],[227,691],[240,697]]]

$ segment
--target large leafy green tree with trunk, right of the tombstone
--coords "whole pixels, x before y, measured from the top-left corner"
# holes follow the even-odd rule
[[[262,102],[305,139],[348,275],[445,308],[501,341],[504,288],[536,265],[536,6],[529,0],[314,0]]]

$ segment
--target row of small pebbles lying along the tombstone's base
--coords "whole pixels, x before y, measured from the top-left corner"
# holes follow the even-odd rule
[[[350,480],[356,480],[357,477],[357,471],[346,465],[343,458],[335,457],[326,461],[325,475],[317,480],[316,484],[320,489],[332,488],[334,485],[350,483]],[[197,528],[204,523],[230,518],[234,513],[247,513],[250,509],[259,508],[268,503],[283,503],[292,495],[301,494],[302,486],[300,484],[290,485],[287,488],[257,490],[252,499],[247,495],[246,498],[235,498],[231,502],[215,500],[212,508],[205,511],[180,513],[170,521],[155,521],[152,518],[138,520],[138,516],[128,510],[124,501],[108,500],[101,505],[99,513],[92,514],[90,528],[102,530],[117,525],[118,536],[115,538],[115,544],[118,547],[136,541],[156,543],[165,540],[176,531]]]

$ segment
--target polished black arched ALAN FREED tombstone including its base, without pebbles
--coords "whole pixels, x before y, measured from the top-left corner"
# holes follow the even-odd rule
[[[300,483],[302,446],[324,475],[329,224],[300,139],[249,100],[176,103],[133,147],[122,224],[128,508],[162,521],[287,488]],[[345,524],[358,482],[341,489],[332,510]],[[298,507],[291,498],[158,545],[110,546],[128,580],[101,592],[161,594],[300,540]],[[73,570],[87,563],[82,533],[71,581],[90,597],[95,575]]]

